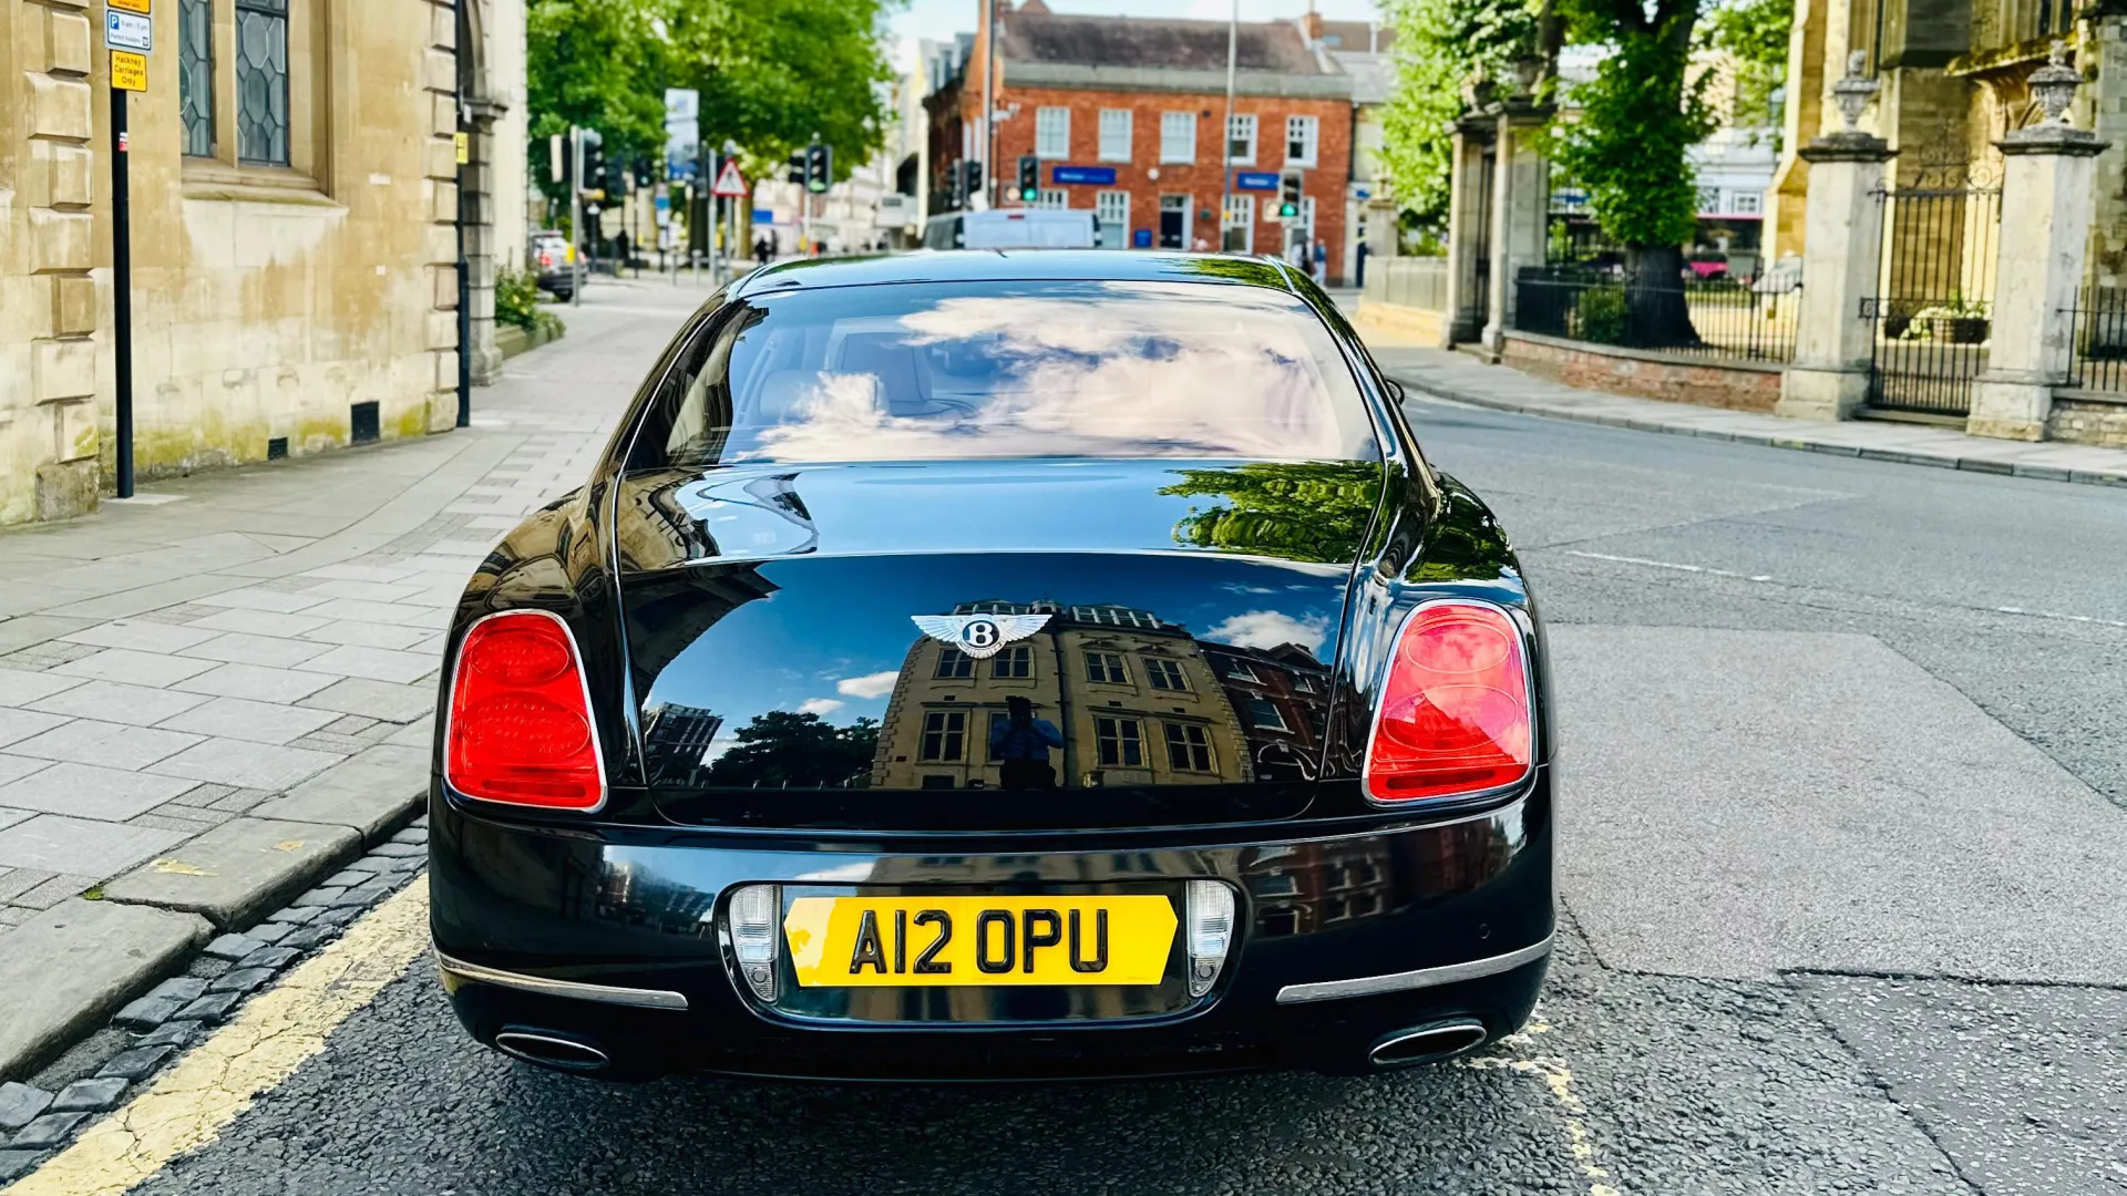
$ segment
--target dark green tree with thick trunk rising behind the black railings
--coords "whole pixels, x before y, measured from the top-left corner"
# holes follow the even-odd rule
[[[1561,0],[1559,9],[1572,40],[1610,53],[1551,123],[1551,160],[1625,247],[1629,338],[1695,345],[1680,283],[1699,198],[1687,151],[1714,130],[1708,79],[1691,72],[1699,0]]]

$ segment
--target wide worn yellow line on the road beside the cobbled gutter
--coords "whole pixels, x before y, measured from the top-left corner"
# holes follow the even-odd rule
[[[428,877],[417,877],[6,1196],[119,1196],[215,1141],[262,1092],[323,1051],[325,1034],[404,975],[428,943]]]

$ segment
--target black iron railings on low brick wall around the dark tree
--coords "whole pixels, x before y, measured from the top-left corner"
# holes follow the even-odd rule
[[[1640,279],[1544,266],[1514,281],[1521,332],[1695,358],[1791,362],[1799,313],[1793,277]]]

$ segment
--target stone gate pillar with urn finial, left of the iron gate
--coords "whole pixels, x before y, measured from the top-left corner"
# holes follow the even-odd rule
[[[1846,117],[1846,132],[1819,136],[1799,155],[1810,164],[1810,198],[1802,234],[1802,313],[1795,326],[1795,362],[1780,379],[1776,415],[1791,419],[1850,419],[1868,398],[1876,321],[1861,317],[1861,302],[1876,294],[1882,264],[1885,162],[1893,149],[1857,132],[1861,109],[1876,92],[1861,77],[1855,55],[1846,79],[1831,87]]]

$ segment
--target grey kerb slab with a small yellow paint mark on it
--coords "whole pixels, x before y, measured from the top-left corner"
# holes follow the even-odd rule
[[[104,900],[181,909],[221,928],[251,926],[357,847],[359,836],[345,826],[236,817],[106,883]]]

